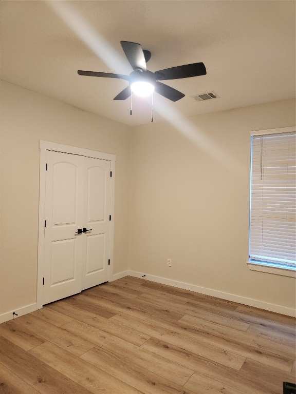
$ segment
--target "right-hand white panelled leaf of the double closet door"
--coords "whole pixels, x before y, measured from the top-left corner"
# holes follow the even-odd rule
[[[84,260],[82,290],[108,280],[110,256],[111,164],[107,160],[84,160]]]

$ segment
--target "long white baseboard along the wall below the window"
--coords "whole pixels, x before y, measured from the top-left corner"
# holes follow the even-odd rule
[[[128,275],[135,278],[142,278],[144,273],[129,270]],[[260,300],[254,300],[252,298],[242,297],[241,295],[226,293],[224,291],[209,289],[207,287],[191,285],[189,283],[173,281],[172,279],[156,277],[154,275],[149,275],[149,274],[145,274],[145,277],[143,279],[156,283],[161,283],[163,285],[179,287],[180,289],[184,289],[184,290],[195,291],[196,293],[211,295],[212,297],[220,298],[222,300],[233,301],[239,304],[253,306],[255,308],[260,308],[264,310],[269,310],[271,312],[285,314],[286,316],[296,317],[295,309],[287,308],[281,305],[270,304],[268,302],[264,302]]]

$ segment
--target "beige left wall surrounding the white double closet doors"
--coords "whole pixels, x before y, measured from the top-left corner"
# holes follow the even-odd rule
[[[116,154],[114,273],[127,269],[130,130],[3,82],[0,314],[36,301],[39,140]]]

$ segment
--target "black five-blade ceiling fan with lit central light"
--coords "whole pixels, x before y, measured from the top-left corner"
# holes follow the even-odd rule
[[[79,75],[120,78],[128,81],[129,85],[114,97],[113,100],[126,100],[131,96],[132,91],[139,95],[149,95],[154,90],[171,101],[178,101],[184,97],[184,94],[168,85],[162,84],[159,81],[178,80],[179,78],[206,75],[207,73],[204,63],[186,64],[183,66],[151,72],[146,68],[146,63],[149,62],[151,58],[150,51],[142,49],[140,44],[132,43],[130,41],[121,41],[120,44],[128,62],[134,70],[130,75],[97,71],[77,71]],[[143,88],[147,89],[145,93],[141,90]],[[141,94],[141,92],[143,94]]]

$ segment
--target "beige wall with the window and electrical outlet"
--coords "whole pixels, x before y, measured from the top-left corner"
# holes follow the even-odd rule
[[[172,123],[133,128],[130,270],[295,307],[294,278],[246,264],[250,131],[295,125],[295,102]]]

